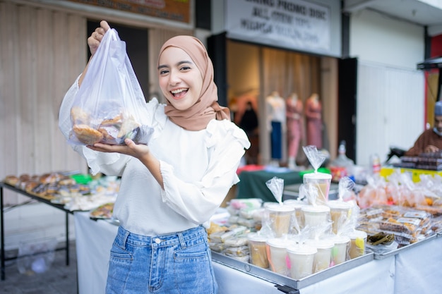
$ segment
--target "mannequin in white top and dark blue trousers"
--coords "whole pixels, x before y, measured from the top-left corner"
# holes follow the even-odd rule
[[[285,133],[285,100],[280,97],[279,92],[273,91],[265,98],[265,103],[267,104],[272,164],[276,165],[276,161],[282,159],[282,134]]]

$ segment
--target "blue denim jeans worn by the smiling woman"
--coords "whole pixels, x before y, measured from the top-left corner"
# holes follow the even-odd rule
[[[110,253],[106,293],[217,293],[205,228],[148,237],[120,226]]]

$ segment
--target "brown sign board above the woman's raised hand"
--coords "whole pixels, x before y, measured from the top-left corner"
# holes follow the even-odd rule
[[[191,0],[69,0],[166,20],[189,23]]]

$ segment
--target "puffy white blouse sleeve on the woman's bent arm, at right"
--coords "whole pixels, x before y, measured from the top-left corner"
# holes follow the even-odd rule
[[[206,132],[210,160],[201,180],[185,183],[164,161],[160,161],[160,169],[165,187],[163,202],[193,223],[208,225],[229,189],[238,183],[237,168],[250,142],[243,130],[227,120],[210,121]]]

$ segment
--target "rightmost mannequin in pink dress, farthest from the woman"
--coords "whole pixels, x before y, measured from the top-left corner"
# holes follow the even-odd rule
[[[322,149],[322,106],[316,93],[306,100],[307,145]]]

